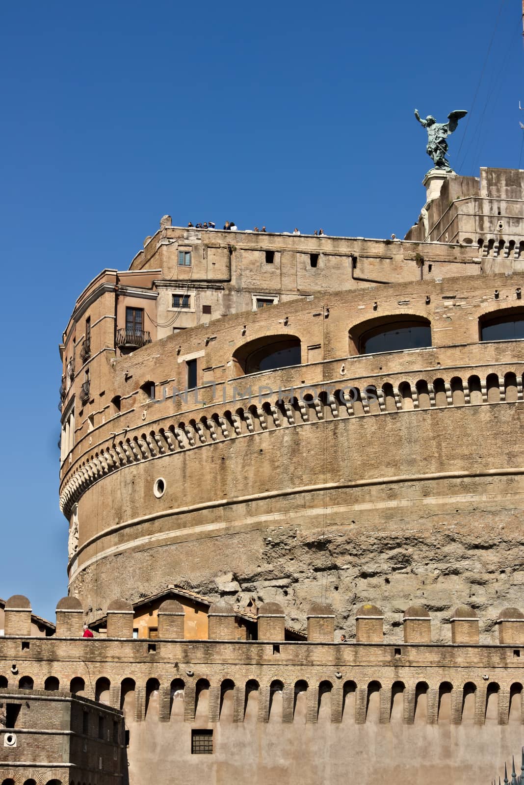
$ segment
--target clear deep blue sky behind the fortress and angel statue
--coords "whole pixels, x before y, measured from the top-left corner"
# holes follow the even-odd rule
[[[520,5],[2,3],[0,597],[54,619],[67,593],[57,345],[86,283],[166,213],[402,236],[431,166],[415,107],[472,108],[460,173],[518,167]]]

